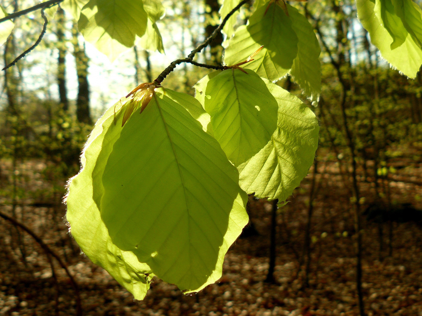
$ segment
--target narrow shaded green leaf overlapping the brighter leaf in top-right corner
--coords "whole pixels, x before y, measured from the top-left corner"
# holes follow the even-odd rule
[[[395,14],[391,0],[376,0],[374,12],[381,26],[390,33],[393,39],[390,48],[395,49],[402,45],[406,40],[408,32],[404,28],[400,18]]]

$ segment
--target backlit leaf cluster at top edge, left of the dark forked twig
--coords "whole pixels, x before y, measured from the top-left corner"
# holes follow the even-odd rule
[[[156,24],[165,13],[160,0],[65,0],[61,5],[78,20],[85,39],[111,60],[135,43],[164,53]]]

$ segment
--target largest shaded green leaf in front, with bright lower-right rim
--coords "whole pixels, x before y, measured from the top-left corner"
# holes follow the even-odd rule
[[[114,244],[162,280],[202,289],[248,222],[238,171],[192,117],[204,112],[192,96],[157,89],[123,128],[122,112],[104,137],[104,169],[92,173],[101,218]]]

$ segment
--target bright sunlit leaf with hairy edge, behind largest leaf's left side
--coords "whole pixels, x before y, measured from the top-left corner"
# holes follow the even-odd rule
[[[73,237],[89,259],[106,269],[136,300],[142,300],[153,276],[150,274],[151,268],[140,263],[132,252],[124,252],[112,243],[92,198],[92,171],[101,151],[104,135],[110,126],[114,126],[113,110],[114,107],[111,107],[97,121],[84,147],[82,170],[71,179],[69,185],[66,218]]]

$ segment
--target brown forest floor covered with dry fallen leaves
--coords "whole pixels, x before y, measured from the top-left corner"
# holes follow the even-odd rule
[[[405,167],[400,167],[403,164]],[[62,257],[78,283],[84,315],[358,315],[351,186],[338,162],[319,163],[309,287],[303,288],[304,269],[299,262],[303,262],[312,172],[295,190],[291,202],[279,209],[276,284],[264,282],[271,204],[250,197],[249,213],[258,234],[235,242],[216,284],[196,295],[183,295],[176,286],[154,278],[143,301],[133,300],[105,270],[80,253],[63,219],[65,206],[60,200],[64,183],[45,180],[53,177],[46,171],[49,166],[30,161],[18,164],[14,173],[11,166],[10,161],[1,163],[0,211],[10,216],[14,211],[20,222]],[[395,167],[398,171],[389,180],[379,181],[381,189],[384,186],[392,203],[407,202],[422,209],[422,164],[398,160]],[[369,176],[360,180],[364,209],[373,201],[374,185]],[[15,207],[11,205],[13,194]],[[363,220],[365,311],[369,316],[422,316],[422,229],[415,223],[393,223],[392,227],[389,256],[389,225],[384,224],[380,251],[378,225]],[[73,287],[64,270],[55,267],[58,291],[42,249],[30,236],[0,220],[0,315],[56,315],[56,295],[58,314],[75,315]]]

